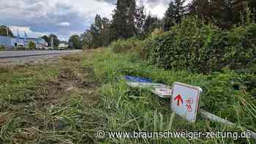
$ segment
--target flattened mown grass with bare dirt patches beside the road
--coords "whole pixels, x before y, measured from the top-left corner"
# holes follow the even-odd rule
[[[86,55],[0,68],[0,143],[95,143],[93,129],[105,122],[94,110],[99,83],[82,68]]]

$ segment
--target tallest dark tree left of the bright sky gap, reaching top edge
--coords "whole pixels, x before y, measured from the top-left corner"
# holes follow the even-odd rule
[[[118,0],[111,24],[111,39],[135,36],[135,0]]]

